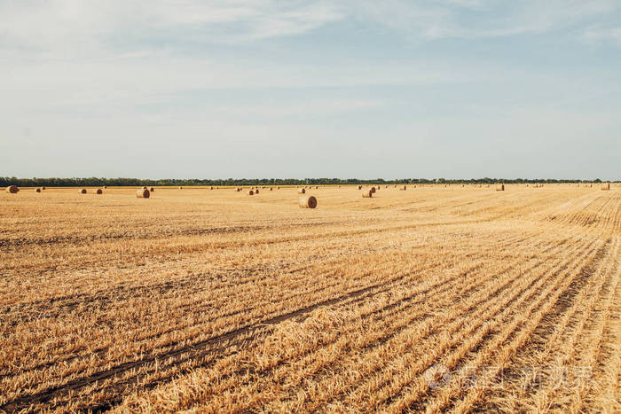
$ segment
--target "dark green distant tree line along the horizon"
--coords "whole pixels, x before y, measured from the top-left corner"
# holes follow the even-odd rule
[[[361,180],[358,178],[227,178],[227,179],[142,179],[142,178],[17,178],[14,176],[0,177],[0,187],[17,185],[19,187],[97,187],[100,185],[110,186],[142,186],[142,185],[336,185],[336,184],[556,184],[556,183],[601,183],[601,179],[594,180],[557,180],[554,178],[471,178],[471,179],[445,179],[445,178],[399,178],[395,180]]]

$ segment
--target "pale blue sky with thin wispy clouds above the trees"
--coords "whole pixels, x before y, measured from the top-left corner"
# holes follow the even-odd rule
[[[0,0],[0,176],[621,180],[618,0]]]

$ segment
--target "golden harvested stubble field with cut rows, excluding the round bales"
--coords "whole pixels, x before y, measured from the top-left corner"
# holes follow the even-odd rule
[[[0,193],[0,410],[621,412],[621,188]]]

